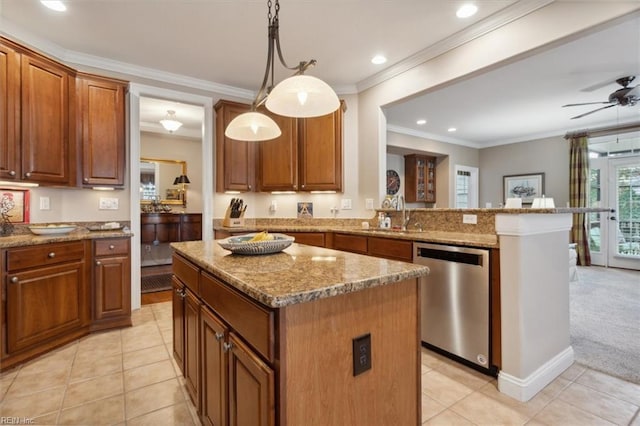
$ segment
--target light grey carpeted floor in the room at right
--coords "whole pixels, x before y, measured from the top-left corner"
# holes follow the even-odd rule
[[[640,384],[640,272],[579,267],[570,286],[576,361]]]

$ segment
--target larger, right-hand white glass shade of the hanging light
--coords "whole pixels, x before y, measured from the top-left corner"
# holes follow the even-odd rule
[[[265,105],[285,117],[319,117],[337,110],[340,100],[331,86],[319,78],[294,75],[271,90]]]

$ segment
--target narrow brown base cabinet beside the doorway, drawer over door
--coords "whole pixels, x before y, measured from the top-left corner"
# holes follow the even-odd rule
[[[131,325],[130,244],[129,238],[93,241],[92,331]]]

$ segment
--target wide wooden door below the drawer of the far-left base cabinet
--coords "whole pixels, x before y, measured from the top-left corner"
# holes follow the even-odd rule
[[[29,348],[89,323],[84,262],[9,274],[7,349]]]

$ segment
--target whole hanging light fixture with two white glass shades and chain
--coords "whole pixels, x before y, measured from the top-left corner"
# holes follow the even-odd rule
[[[262,104],[274,114],[285,117],[318,117],[330,114],[340,106],[338,96],[327,83],[316,77],[304,75],[308,68],[316,64],[315,59],[300,62],[294,67],[286,64],[280,48],[279,0],[275,0],[274,15],[271,14],[271,6],[272,0],[268,0],[269,48],[262,85],[251,105],[251,111],[240,114],[227,126],[224,134],[231,139],[263,141],[275,139],[282,134],[275,121],[257,111]],[[282,66],[295,73],[274,87],[276,52]]]

